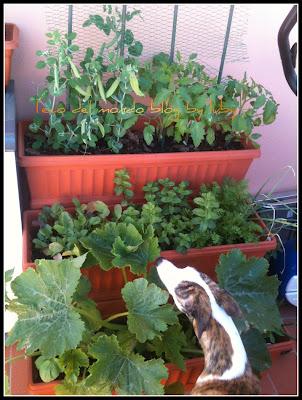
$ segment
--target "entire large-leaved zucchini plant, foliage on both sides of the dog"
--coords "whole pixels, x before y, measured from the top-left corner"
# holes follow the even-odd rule
[[[43,382],[63,376],[56,394],[163,394],[165,363],[184,370],[186,358],[202,355],[191,323],[154,283],[156,268],[153,275],[125,284],[126,311],[103,318],[87,297],[90,283],[80,272],[85,258],[36,260],[35,269],[11,282],[14,298],[6,295],[6,309],[18,320],[6,345],[17,343],[24,350],[17,358],[34,357]],[[278,279],[267,275],[264,258],[247,260],[239,250],[222,255],[216,271],[219,285],[243,312],[244,319],[235,323],[253,369],[261,372],[271,365],[264,336],[284,335],[276,305]]]

